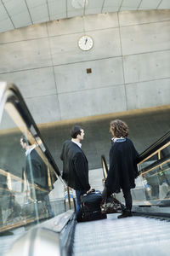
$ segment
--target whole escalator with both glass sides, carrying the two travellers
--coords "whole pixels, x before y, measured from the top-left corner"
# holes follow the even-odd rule
[[[170,255],[170,132],[140,154],[133,217],[114,213],[77,223],[72,191],[12,84],[0,83],[0,121],[0,255]],[[43,175],[35,176],[28,159],[28,176],[23,136],[43,162]],[[106,177],[105,156],[102,167]],[[121,193],[116,197],[124,202]]]

